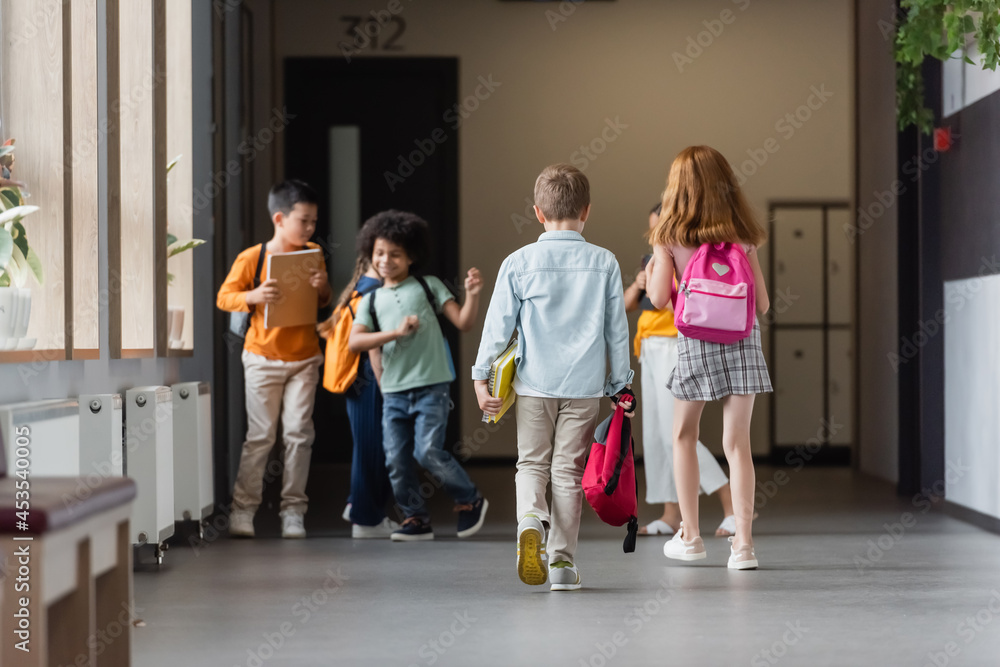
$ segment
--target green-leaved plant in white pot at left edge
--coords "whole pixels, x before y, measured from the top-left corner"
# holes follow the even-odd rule
[[[24,339],[31,313],[31,290],[26,285],[34,276],[39,285],[45,274],[38,254],[28,243],[23,221],[38,211],[26,206],[24,183],[13,180],[14,140],[0,146],[0,349],[29,349],[34,341]]]

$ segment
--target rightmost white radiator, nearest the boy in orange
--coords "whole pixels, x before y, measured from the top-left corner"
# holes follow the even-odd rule
[[[215,504],[212,484],[212,390],[184,382],[174,391],[174,520],[200,521]]]

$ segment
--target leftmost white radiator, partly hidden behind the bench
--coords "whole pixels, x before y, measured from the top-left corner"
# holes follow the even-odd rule
[[[0,429],[8,465],[15,442],[28,439],[32,477],[77,477],[80,464],[80,411],[76,399],[56,399],[0,406]]]

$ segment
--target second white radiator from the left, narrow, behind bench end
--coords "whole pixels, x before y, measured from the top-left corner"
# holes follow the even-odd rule
[[[90,479],[125,474],[122,395],[80,395],[80,475]]]

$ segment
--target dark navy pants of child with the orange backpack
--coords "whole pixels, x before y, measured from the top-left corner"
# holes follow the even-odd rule
[[[358,361],[358,379],[345,395],[351,422],[354,457],[351,461],[351,521],[376,526],[385,518],[389,475],[382,447],[382,392],[368,355]]]

